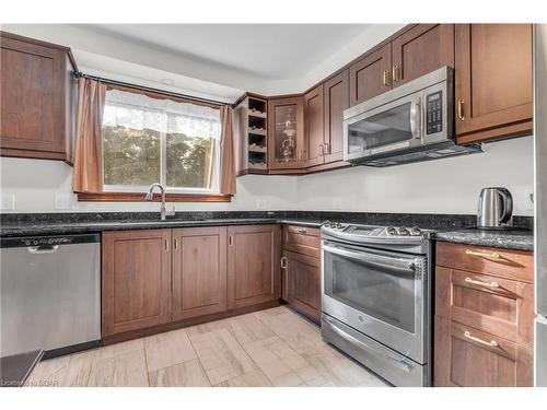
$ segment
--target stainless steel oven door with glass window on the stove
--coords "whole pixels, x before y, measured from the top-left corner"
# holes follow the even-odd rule
[[[322,249],[323,312],[426,363],[426,256],[330,241]]]

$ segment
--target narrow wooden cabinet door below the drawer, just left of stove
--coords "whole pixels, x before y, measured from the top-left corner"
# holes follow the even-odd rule
[[[321,320],[319,265],[317,258],[283,250],[283,300],[316,323]]]

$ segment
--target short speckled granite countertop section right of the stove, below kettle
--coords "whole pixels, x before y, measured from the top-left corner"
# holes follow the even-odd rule
[[[526,229],[487,231],[473,227],[457,231],[440,231],[433,232],[431,238],[456,244],[534,250],[534,231]]]

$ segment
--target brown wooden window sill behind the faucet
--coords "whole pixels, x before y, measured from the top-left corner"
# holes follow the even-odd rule
[[[146,202],[146,194],[139,192],[78,192],[79,202]],[[161,202],[162,196],[154,194],[153,201]],[[165,202],[230,202],[231,195],[222,194],[165,194]]]

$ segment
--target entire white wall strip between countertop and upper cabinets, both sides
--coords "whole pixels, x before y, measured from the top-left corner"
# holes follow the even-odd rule
[[[177,210],[267,210],[475,213],[480,188],[504,186],[513,194],[514,214],[533,215],[532,137],[485,145],[484,154],[400,165],[358,166],[306,176],[237,178],[231,203],[176,203]],[[56,195],[71,196],[72,168],[62,162],[1,159],[2,196],[14,195],[14,212],[158,211],[149,202],[77,202],[56,209]],[[170,204],[171,207],[171,204]]]

